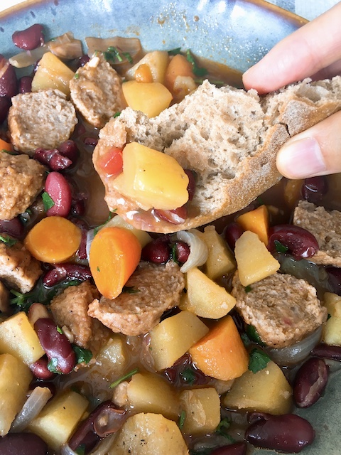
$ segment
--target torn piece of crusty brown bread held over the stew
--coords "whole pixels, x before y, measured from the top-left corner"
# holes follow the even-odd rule
[[[294,134],[341,108],[341,77],[296,85],[259,97],[255,90],[217,88],[207,80],[178,105],[148,119],[124,109],[99,133],[94,167],[111,210],[136,228],[153,232],[187,230],[211,223],[251,203],[281,178],[276,153]],[[122,197],[98,160],[110,147],[140,144],[173,156],[197,174],[188,218],[175,225]]]

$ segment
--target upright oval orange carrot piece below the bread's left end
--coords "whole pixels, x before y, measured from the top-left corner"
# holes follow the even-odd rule
[[[99,292],[114,299],[136,269],[141,258],[141,244],[125,228],[102,228],[90,247],[90,270]]]

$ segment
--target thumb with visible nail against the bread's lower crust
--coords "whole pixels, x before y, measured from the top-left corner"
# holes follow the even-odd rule
[[[296,134],[278,151],[278,171],[287,178],[341,172],[341,111]]]

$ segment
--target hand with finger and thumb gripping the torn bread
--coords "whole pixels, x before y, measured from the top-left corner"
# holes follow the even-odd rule
[[[341,2],[272,48],[243,75],[247,90],[277,90],[291,82],[341,74]],[[341,98],[341,90],[340,90]],[[277,155],[278,171],[287,178],[341,172],[341,112],[296,134]]]

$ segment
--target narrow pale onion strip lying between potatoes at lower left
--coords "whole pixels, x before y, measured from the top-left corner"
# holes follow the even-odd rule
[[[21,411],[14,419],[11,431],[15,433],[22,432],[28,424],[40,413],[52,393],[48,387],[36,387],[21,408]]]

